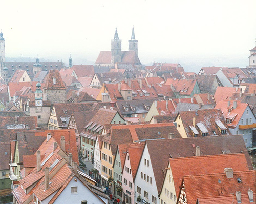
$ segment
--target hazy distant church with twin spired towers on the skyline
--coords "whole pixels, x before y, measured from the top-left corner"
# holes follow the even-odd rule
[[[138,40],[135,39],[134,27],[131,40],[129,40],[128,51],[122,51],[122,40],[119,39],[116,29],[114,39],[111,40],[111,51],[100,51],[95,65],[113,68],[116,63],[132,63],[138,69],[141,68],[140,59],[138,57]]]

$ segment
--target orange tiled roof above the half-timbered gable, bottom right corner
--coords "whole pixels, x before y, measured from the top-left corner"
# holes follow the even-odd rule
[[[183,177],[183,183],[187,203],[196,203],[198,198],[228,196],[236,191],[246,194],[248,189],[255,192],[256,171],[233,172],[233,178],[227,178],[226,173],[190,175]]]

